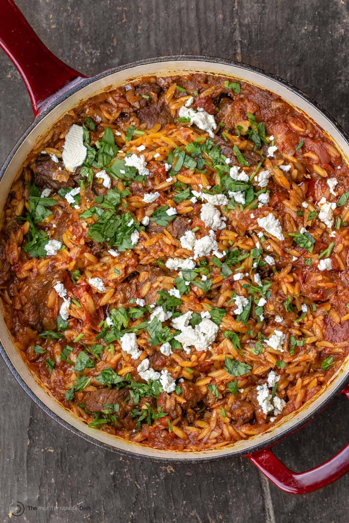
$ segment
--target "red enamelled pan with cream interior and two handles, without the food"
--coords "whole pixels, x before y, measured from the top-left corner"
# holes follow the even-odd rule
[[[343,129],[321,107],[294,86],[265,71],[239,62],[207,56],[164,56],[116,67],[86,78],[54,56],[35,35],[12,0],[0,0],[0,45],[16,65],[29,92],[35,120],[18,140],[0,170],[0,209],[8,190],[21,171],[27,155],[40,145],[55,121],[83,100],[112,86],[123,85],[144,75],[170,75],[188,72],[222,74],[250,82],[282,96],[289,104],[306,113],[336,143],[345,158],[349,139]],[[272,452],[277,441],[298,430],[323,410],[337,394],[349,399],[349,359],[311,402],[285,418],[266,433],[234,445],[204,451],[164,451],[110,436],[87,427],[80,418],[43,389],[15,348],[0,315],[0,352],[22,388],[31,399],[74,434],[133,458],[155,462],[201,462],[246,456],[276,486],[291,494],[303,494],[335,481],[349,470],[349,444],[333,458],[306,472],[289,470]]]

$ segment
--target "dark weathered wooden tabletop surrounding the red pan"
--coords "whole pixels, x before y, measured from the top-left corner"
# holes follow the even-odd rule
[[[171,54],[222,56],[257,65],[301,88],[349,131],[349,8],[332,0],[16,0],[61,60],[93,75]],[[0,15],[1,16],[1,15]],[[26,89],[0,52],[0,162],[32,121]],[[246,459],[161,465],[126,459],[72,435],[45,415],[0,359],[0,521],[288,523],[349,521],[349,474],[322,490],[290,496]],[[338,397],[275,447],[295,471],[314,467],[348,439]],[[9,519],[9,504],[26,506]],[[45,511],[28,505],[48,506]],[[68,510],[63,507],[89,507]],[[25,519],[24,519],[25,518]]]

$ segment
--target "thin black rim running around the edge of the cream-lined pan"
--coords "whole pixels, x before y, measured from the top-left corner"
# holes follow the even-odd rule
[[[81,82],[73,85],[72,87],[68,87],[64,93],[53,96],[52,102],[35,118],[35,120],[30,124],[28,129],[22,134],[22,136],[19,138],[19,140],[14,145],[13,149],[10,151],[9,155],[7,156],[2,168],[0,169],[0,180],[4,176],[6,169],[14,157],[15,153],[17,152],[19,146],[24,142],[24,140],[27,138],[28,134],[37,126],[37,124],[48,115],[49,112],[51,112],[55,107],[57,107],[59,104],[62,103],[62,101],[69,98],[71,95],[76,93],[77,91],[81,90],[83,87],[86,87],[87,85],[90,85],[94,83],[95,81],[104,78],[106,76],[109,76],[111,74],[124,71],[126,69],[131,69],[132,67],[136,67],[139,65],[148,65],[148,64],[157,64],[160,62],[178,62],[178,61],[198,61],[198,62],[213,62],[217,64],[222,65],[230,65],[234,67],[238,67],[242,71],[251,71],[253,73],[257,73],[260,76],[263,76],[265,78],[271,79],[274,82],[286,87],[289,89],[292,93],[295,93],[298,97],[302,98],[303,100],[307,101],[307,103],[311,104],[313,107],[315,107],[321,115],[327,119],[333,127],[342,135],[343,139],[345,140],[346,144],[349,147],[349,136],[347,133],[342,129],[339,123],[332,118],[329,113],[323,109],[316,101],[314,101],[312,98],[310,98],[308,95],[303,93],[300,89],[295,87],[294,85],[290,84],[289,82],[286,82],[282,78],[279,78],[278,76],[275,76],[271,73],[268,73],[266,71],[263,71],[262,69],[259,69],[258,67],[244,64],[242,62],[236,62],[234,60],[226,60],[224,58],[217,58],[215,56],[196,56],[196,55],[174,55],[174,56],[156,56],[155,58],[149,58],[144,60],[139,60],[136,62],[131,62],[125,65],[120,65],[118,67],[113,67],[112,69],[108,69],[107,71],[103,71],[102,73],[99,73],[95,76],[84,78],[81,80]],[[265,449],[267,447],[271,447],[274,445],[277,441],[280,439],[285,438],[289,434],[295,432],[299,428],[301,428],[303,425],[307,424],[311,419],[313,419],[315,416],[317,416],[324,408],[327,406],[337,394],[342,392],[343,388],[349,383],[349,371],[347,373],[343,372],[342,379],[340,380],[339,384],[336,386],[336,388],[329,394],[325,399],[316,407],[314,410],[312,410],[305,418],[300,420],[299,422],[293,424],[290,428],[283,430],[281,433],[279,433],[277,436],[271,436],[266,441],[261,442],[260,444],[251,445],[248,449],[244,449],[241,451],[236,452],[229,452],[229,449],[232,447],[227,447],[228,452],[226,454],[220,454],[220,456],[209,456],[209,455],[203,455],[196,456],[195,452],[193,453],[193,458],[176,458],[175,456],[172,457],[171,454],[168,455],[168,457],[153,457],[153,456],[145,456],[144,454],[133,452],[132,450],[124,450],[112,447],[111,445],[105,444],[102,441],[99,441],[98,439],[88,436],[87,434],[83,433],[81,430],[73,427],[70,423],[65,422],[58,414],[51,411],[51,409],[44,404],[39,397],[29,388],[27,383],[22,379],[19,372],[16,370],[15,366],[13,365],[12,361],[9,359],[3,345],[0,343],[0,354],[2,355],[3,359],[5,360],[5,363],[7,367],[9,368],[10,372],[12,372],[13,376],[19,383],[22,389],[28,394],[28,396],[37,404],[39,407],[42,408],[42,410],[48,414],[51,418],[53,418],[56,422],[58,422],[60,425],[65,427],[67,430],[70,430],[73,434],[80,436],[84,438],[85,440],[93,443],[94,445],[97,445],[99,447],[102,447],[106,450],[116,452],[118,454],[121,454],[122,456],[126,456],[128,458],[136,458],[141,459],[145,461],[152,461],[155,463],[202,463],[202,462],[208,462],[208,461],[220,461],[222,459],[227,458],[235,458],[239,456],[246,456],[249,454],[252,454],[254,452],[260,451],[262,449]],[[98,436],[98,433],[96,432],[96,436]],[[132,444],[134,445],[134,444]],[[140,450],[141,446],[137,446],[137,448]],[[172,451],[171,451],[172,452]],[[205,451],[203,451],[205,452]],[[189,452],[188,452],[189,454]]]

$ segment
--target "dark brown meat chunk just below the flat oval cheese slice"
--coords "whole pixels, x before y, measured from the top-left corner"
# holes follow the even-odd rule
[[[59,170],[61,167],[61,170]],[[54,162],[48,154],[42,154],[31,164],[34,183],[37,187],[50,187],[59,190],[75,185],[70,174],[64,170],[63,162]]]

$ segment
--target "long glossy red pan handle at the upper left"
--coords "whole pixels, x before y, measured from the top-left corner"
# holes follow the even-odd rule
[[[0,0],[0,46],[24,79],[35,116],[86,78],[44,46],[13,0]]]

